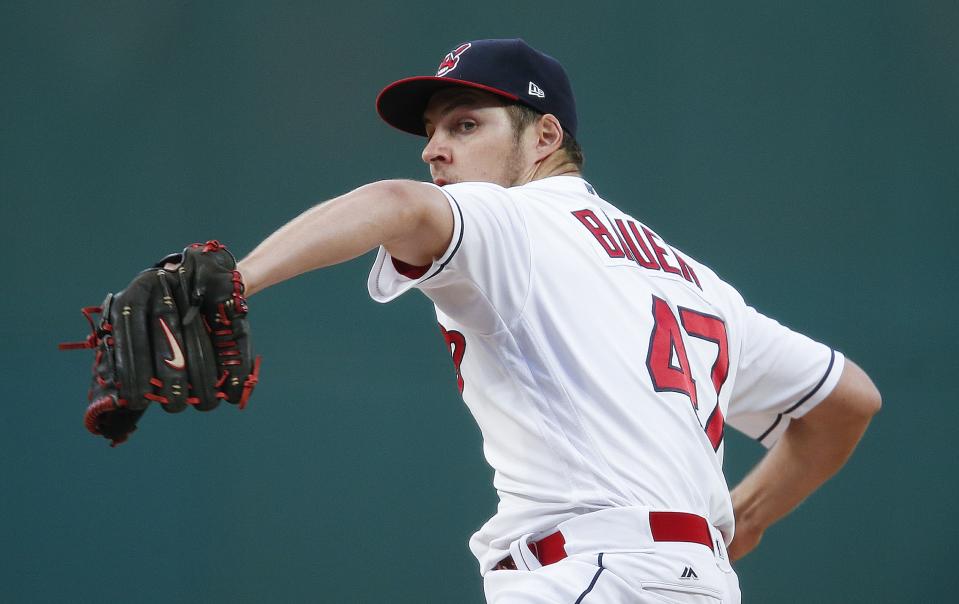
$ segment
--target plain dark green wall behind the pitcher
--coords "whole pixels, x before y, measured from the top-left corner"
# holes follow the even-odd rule
[[[587,178],[885,406],[738,565],[747,602],[941,602],[959,579],[955,2],[2,2],[4,602],[481,602],[478,431],[422,296],[366,256],[252,300],[251,407],[81,425],[78,309],[185,243],[242,252],[427,177],[386,83],[522,36],[567,66]],[[82,8],[81,8],[82,6]],[[761,448],[731,435],[736,482]]]

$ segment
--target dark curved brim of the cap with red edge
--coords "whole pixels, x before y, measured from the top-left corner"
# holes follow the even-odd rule
[[[434,93],[450,87],[482,90],[510,101],[516,101],[519,98],[504,90],[456,78],[414,76],[397,80],[380,91],[376,97],[376,112],[380,114],[383,121],[394,128],[410,134],[426,136],[426,127],[423,125],[426,106]]]

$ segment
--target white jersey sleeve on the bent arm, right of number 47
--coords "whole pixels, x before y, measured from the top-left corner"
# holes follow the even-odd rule
[[[746,307],[743,325],[727,422],[771,447],[792,418],[802,417],[832,392],[845,358],[752,307]]]

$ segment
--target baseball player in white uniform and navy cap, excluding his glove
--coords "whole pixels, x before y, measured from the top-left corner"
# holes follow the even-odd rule
[[[730,561],[843,465],[872,382],[584,180],[566,73],[522,40],[461,44],[377,109],[432,182],[304,212],[239,263],[247,295],[378,248],[375,300],[435,304],[495,470],[489,602],[739,602]],[[732,492],[726,424],[770,448]]]

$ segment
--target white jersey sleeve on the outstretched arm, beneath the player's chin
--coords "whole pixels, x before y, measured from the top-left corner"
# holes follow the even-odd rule
[[[381,247],[367,283],[370,296],[389,302],[417,288],[448,315],[487,331],[495,318],[515,317],[529,291],[525,218],[508,190],[497,185],[460,183],[440,190],[453,211],[449,247],[415,272],[401,272],[406,267]]]

